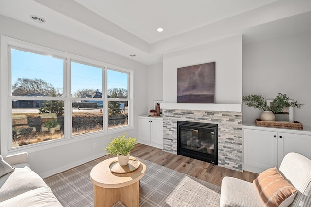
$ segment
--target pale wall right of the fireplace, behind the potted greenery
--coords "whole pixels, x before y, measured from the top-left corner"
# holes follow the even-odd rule
[[[311,31],[243,45],[243,95],[274,98],[285,93],[305,104],[294,120],[311,126]],[[254,123],[258,109],[242,107],[243,123]]]

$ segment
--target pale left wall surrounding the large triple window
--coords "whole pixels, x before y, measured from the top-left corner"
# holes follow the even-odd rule
[[[129,130],[128,135],[132,137],[138,136],[137,116],[144,114],[147,110],[146,86],[148,67],[146,65],[4,16],[0,16],[0,35],[6,35],[52,49],[70,52],[91,59],[103,61],[105,63],[135,70],[135,128],[133,130]],[[0,131],[6,129],[7,126],[4,127],[4,129],[0,129]],[[121,133],[119,132],[106,136],[93,137],[86,140],[82,139],[81,141],[74,143],[65,142],[62,146],[31,152],[29,153],[29,162],[32,169],[36,173],[41,176],[49,176],[51,173],[57,173],[70,167],[82,164],[88,160],[105,155],[102,148],[106,147],[107,143],[110,142],[108,138],[115,137],[120,134]],[[97,142],[97,148],[93,148],[94,142]]]

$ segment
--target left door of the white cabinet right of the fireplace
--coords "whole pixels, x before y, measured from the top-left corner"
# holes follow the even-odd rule
[[[264,171],[277,166],[277,133],[244,129],[244,164]]]

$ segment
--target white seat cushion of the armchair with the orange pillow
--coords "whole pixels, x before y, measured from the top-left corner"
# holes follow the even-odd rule
[[[220,207],[262,207],[254,184],[234,177],[224,177]]]

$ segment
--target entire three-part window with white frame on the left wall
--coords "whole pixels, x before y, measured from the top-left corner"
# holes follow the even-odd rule
[[[3,152],[132,127],[132,70],[9,37],[1,43]]]

